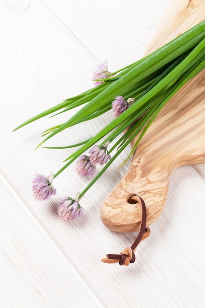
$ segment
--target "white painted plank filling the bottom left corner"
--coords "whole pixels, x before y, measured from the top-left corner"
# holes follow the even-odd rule
[[[0,307],[103,307],[0,177]]]

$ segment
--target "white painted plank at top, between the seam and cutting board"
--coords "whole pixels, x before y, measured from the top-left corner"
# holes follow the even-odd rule
[[[116,70],[143,56],[170,0],[41,2],[97,62],[108,59],[111,70]]]

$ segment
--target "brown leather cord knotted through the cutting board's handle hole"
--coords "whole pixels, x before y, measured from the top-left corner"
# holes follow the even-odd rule
[[[120,254],[107,254],[106,258],[102,259],[103,263],[119,263],[119,265],[128,266],[135,262],[135,250],[141,241],[146,239],[150,234],[150,229],[146,227],[146,205],[144,200],[136,195],[136,199],[142,208],[142,220],[139,234],[131,247],[126,247]]]

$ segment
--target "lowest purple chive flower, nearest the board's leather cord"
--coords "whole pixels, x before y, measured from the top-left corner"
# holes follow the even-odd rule
[[[84,209],[78,201],[70,197],[60,199],[58,209],[59,217],[63,220],[73,220],[82,217],[84,215]]]

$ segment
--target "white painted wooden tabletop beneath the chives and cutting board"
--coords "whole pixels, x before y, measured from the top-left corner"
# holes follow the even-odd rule
[[[115,164],[87,192],[82,220],[64,222],[57,200],[88,179],[74,165],[55,180],[51,201],[33,200],[35,172],[58,171],[68,150],[40,148],[40,133],[68,116],[29,117],[92,87],[105,59],[116,70],[140,59],[170,0],[0,0],[0,307],[205,307],[205,164],[178,168],[163,215],[129,267],[101,263],[137,233],[105,228],[99,207],[128,168]],[[74,111],[70,112],[70,115]],[[109,119],[49,140],[68,145]]]

